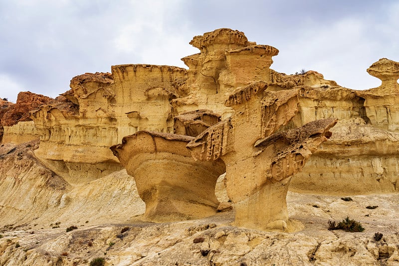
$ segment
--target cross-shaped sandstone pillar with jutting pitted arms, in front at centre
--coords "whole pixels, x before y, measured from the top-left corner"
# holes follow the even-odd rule
[[[275,133],[298,111],[298,91],[268,92],[263,101],[266,88],[264,82],[237,88],[226,101],[234,110],[231,118],[201,133],[188,148],[196,159],[221,158],[226,164],[226,189],[235,204],[235,225],[287,231],[289,178],[331,136],[329,129],[337,121],[319,120]]]

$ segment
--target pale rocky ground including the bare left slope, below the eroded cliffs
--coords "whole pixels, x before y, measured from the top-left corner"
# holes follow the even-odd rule
[[[399,194],[289,192],[290,233],[234,227],[234,209],[155,224],[141,220],[145,206],[125,170],[71,186],[34,157],[37,143],[0,147],[1,266],[399,265]],[[216,192],[228,200],[223,176]],[[328,230],[347,216],[365,231]]]

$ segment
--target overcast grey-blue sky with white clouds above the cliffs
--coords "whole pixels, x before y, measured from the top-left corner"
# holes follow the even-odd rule
[[[228,27],[280,50],[271,68],[315,70],[341,86],[381,84],[366,69],[399,61],[398,0],[0,0],[0,97],[50,97],[111,65],[185,67],[195,35]]]

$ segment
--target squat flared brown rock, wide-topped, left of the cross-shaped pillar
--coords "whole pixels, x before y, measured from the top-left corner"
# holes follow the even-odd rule
[[[225,172],[223,161],[196,161],[186,148],[192,136],[139,131],[111,147],[136,180],[146,203],[144,219],[171,222],[216,213],[216,180]]]

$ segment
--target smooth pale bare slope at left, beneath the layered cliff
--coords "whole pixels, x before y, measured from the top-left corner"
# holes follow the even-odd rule
[[[39,229],[56,222],[85,221],[92,225],[125,221],[144,212],[135,181],[126,170],[71,186],[35,158],[37,147],[38,140],[0,147],[0,227],[29,223],[39,224],[35,227]]]

